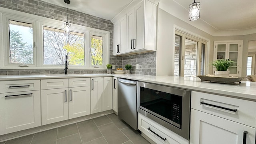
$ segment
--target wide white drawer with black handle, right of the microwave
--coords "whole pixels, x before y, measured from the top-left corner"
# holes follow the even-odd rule
[[[192,91],[191,108],[256,127],[256,102],[253,101]]]

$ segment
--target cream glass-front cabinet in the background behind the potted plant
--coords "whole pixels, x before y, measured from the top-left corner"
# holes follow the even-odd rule
[[[214,41],[213,60],[230,59],[236,64],[229,68],[230,76],[241,76],[243,40]],[[213,74],[216,68],[213,68]]]

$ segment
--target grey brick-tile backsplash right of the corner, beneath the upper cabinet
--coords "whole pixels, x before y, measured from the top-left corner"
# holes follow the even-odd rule
[[[126,64],[132,65],[132,74],[156,76],[156,52],[146,52],[123,57],[123,68]],[[136,69],[139,64],[139,69]]]

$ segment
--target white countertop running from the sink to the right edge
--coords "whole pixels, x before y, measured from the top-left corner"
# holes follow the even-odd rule
[[[0,81],[5,80],[32,80],[52,78],[80,78],[80,77],[102,77],[115,76],[142,82],[162,84],[200,92],[220,94],[234,98],[256,101],[256,82],[242,81],[241,84],[217,84],[201,82],[200,78],[184,78],[177,76],[146,76],[138,74],[52,74],[52,75],[20,75],[0,76]]]

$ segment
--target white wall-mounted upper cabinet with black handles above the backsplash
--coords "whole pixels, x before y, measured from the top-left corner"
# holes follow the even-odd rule
[[[138,1],[132,2],[118,14],[112,20],[114,23],[114,55],[155,51],[156,13],[157,4],[143,0],[139,3]],[[124,30],[124,25],[121,25],[124,24],[122,22],[126,22],[126,30]],[[126,36],[122,34],[126,34]],[[124,41],[126,44],[122,44]],[[125,50],[123,49],[124,46]]]

